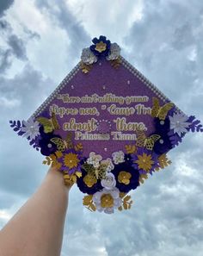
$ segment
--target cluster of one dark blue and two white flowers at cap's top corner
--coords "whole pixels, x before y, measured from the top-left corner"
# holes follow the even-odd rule
[[[120,47],[117,43],[111,43],[106,36],[101,35],[98,39],[92,40],[93,45],[89,48],[84,48],[81,59],[84,64],[91,65],[97,62],[99,58],[106,58],[108,60],[119,59]]]

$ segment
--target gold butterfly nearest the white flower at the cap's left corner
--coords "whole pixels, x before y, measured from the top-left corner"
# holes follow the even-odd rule
[[[40,124],[43,126],[44,132],[46,134],[52,133],[52,131],[58,130],[60,128],[57,118],[56,118],[56,114],[53,112],[52,112],[52,116],[50,119],[40,116],[40,117],[36,118],[36,121],[40,122]]]

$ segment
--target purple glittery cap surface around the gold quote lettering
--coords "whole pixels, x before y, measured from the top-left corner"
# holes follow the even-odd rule
[[[118,69],[115,69],[111,66],[110,62],[106,59],[98,60],[89,71],[89,73],[84,74],[82,71],[77,72],[77,75],[71,79],[70,82],[65,84],[65,88],[60,91],[60,94],[69,94],[70,97],[84,97],[85,95],[97,94],[103,96],[106,93],[112,93],[115,96],[147,96],[149,101],[143,103],[145,107],[152,106],[152,97],[157,97],[154,92],[152,92],[143,82],[136,78],[132,72],[129,72],[126,67],[120,66]],[[160,104],[163,104],[163,101],[159,99]],[[145,126],[148,128],[146,132],[147,135],[152,134],[155,131],[155,124],[153,118],[150,115],[137,115],[133,114],[131,116],[116,116],[110,115],[108,112],[108,107],[111,104],[115,104],[116,107],[134,107],[138,103],[131,103],[127,105],[126,103],[120,105],[119,103],[63,103],[62,100],[55,98],[49,105],[53,103],[57,104],[58,107],[65,108],[93,108],[96,107],[100,112],[100,116],[83,116],[83,115],[65,115],[63,118],[60,118],[57,115],[58,122],[61,126],[59,132],[55,132],[62,136],[65,139],[67,132],[62,130],[62,124],[64,122],[69,122],[71,118],[76,118],[76,122],[87,122],[91,118],[95,118],[97,122],[102,120],[108,120],[111,122],[111,131],[116,131],[114,120],[117,117],[126,117],[126,122],[144,122]],[[102,109],[102,105],[106,105],[106,109]],[[44,116],[49,112],[49,106],[40,114]],[[102,130],[106,128],[102,127]],[[92,134],[99,134],[98,130],[91,132]],[[135,134],[133,131],[122,131],[122,134]],[[132,140],[113,140],[112,136],[110,140],[77,140],[76,141],[83,143],[83,156],[88,157],[89,153],[94,151],[102,155],[103,159],[111,157],[111,154],[115,151],[125,150],[125,145],[130,144]]]

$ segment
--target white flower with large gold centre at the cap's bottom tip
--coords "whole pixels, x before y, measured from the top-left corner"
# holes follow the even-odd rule
[[[120,198],[120,190],[114,188],[113,190],[103,189],[96,192],[92,197],[95,207],[98,211],[104,211],[107,214],[114,213],[114,209],[120,207],[122,200]]]

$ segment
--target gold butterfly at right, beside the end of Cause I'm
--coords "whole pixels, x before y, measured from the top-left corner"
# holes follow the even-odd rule
[[[174,107],[174,103],[166,103],[162,107],[159,104],[157,97],[152,97],[153,106],[151,116],[158,117],[160,120],[165,120],[170,109]]]

